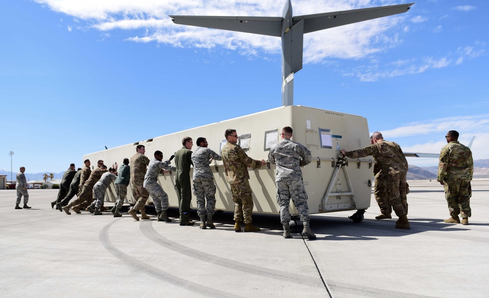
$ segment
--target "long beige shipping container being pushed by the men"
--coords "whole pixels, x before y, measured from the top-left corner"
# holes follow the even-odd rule
[[[302,143],[312,153],[312,162],[301,168],[310,214],[361,210],[352,218],[356,222],[361,221],[363,210],[370,206],[373,158],[348,160],[348,166],[338,166],[340,149],[351,151],[370,145],[367,119],[357,115],[304,106],[285,106],[90,153],[83,159],[91,160],[92,164],[95,160],[104,160],[107,165],[114,162],[121,165],[122,160],[131,158],[136,152],[136,146],[142,144],[146,147],[146,156],[150,160],[154,158],[156,150],[163,152],[163,160],[166,160],[182,147],[181,140],[184,137],[194,140],[194,150],[197,138],[204,137],[209,148],[220,154],[226,142],[224,131],[232,128],[236,129],[240,136],[240,145],[249,157],[268,160],[269,149],[280,141],[284,126],[292,127],[292,140]],[[234,210],[222,161],[213,161],[211,169],[217,186],[216,209]],[[280,209],[276,202],[275,165],[267,162],[259,169],[248,168],[248,171],[253,192],[253,212],[278,214]],[[178,207],[175,173],[160,175],[158,181],[168,193],[170,206]],[[115,202],[113,184],[105,199],[107,202]],[[151,197],[149,202],[152,202]],[[131,185],[128,187],[125,203],[135,204]],[[196,207],[195,197],[191,206]],[[290,212],[297,213],[292,204]]]

